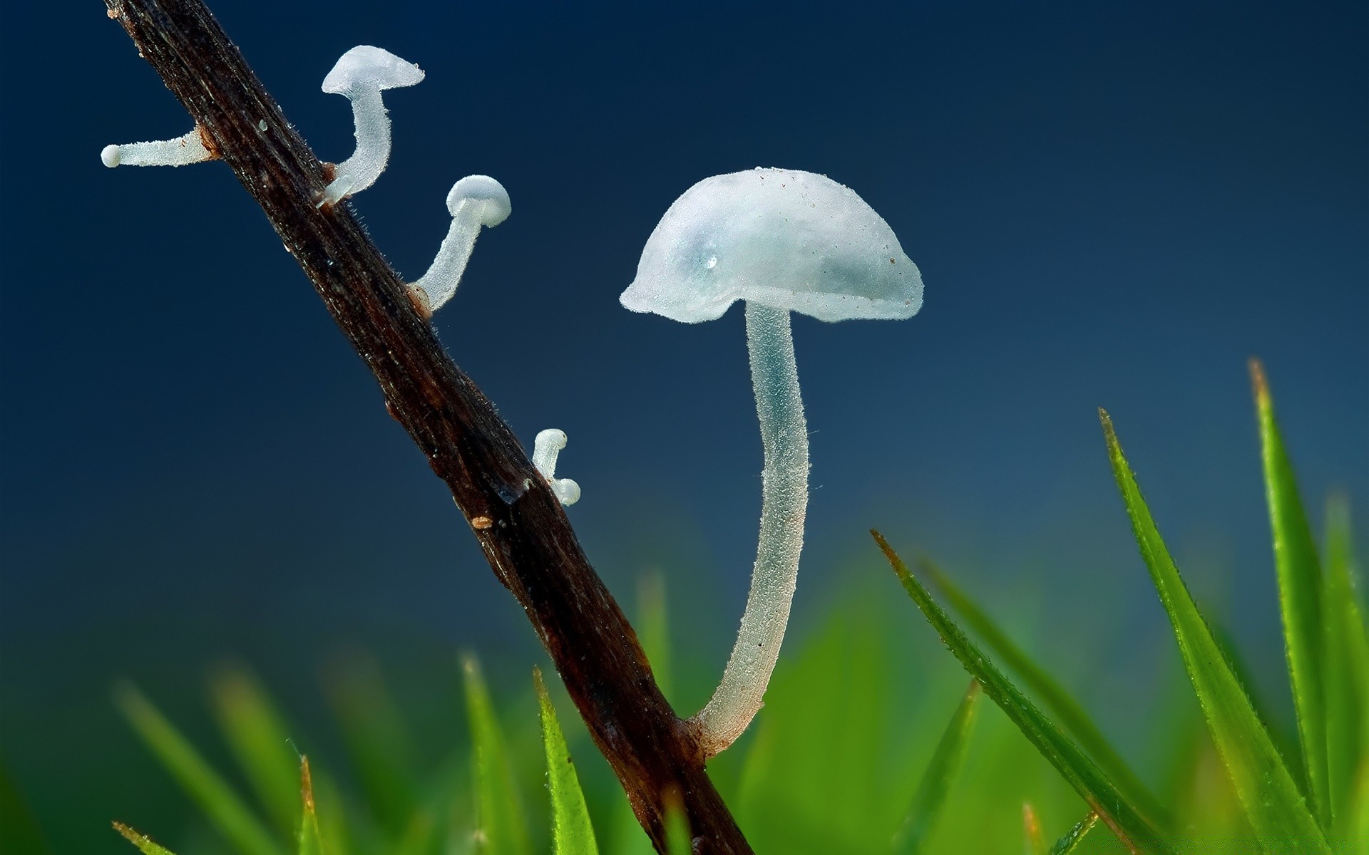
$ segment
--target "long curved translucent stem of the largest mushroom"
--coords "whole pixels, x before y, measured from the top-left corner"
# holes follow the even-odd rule
[[[808,509],[808,423],[789,311],[747,301],[746,346],[765,447],[761,534],[732,655],[713,698],[689,721],[705,758],[731,746],[763,706],[789,624]]]

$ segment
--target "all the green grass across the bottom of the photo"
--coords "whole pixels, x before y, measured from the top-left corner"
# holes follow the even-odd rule
[[[1144,714],[1162,726],[1109,732],[1028,653],[1040,637],[1014,637],[1014,624],[995,621],[953,570],[919,557],[914,575],[876,535],[932,631],[891,596],[873,550],[856,562],[862,581],[791,644],[752,731],[711,763],[756,851],[1369,852],[1369,640],[1350,512],[1329,502],[1318,555],[1272,394],[1254,375],[1296,746],[1270,733],[1238,651],[1188,594],[1105,416],[1123,506],[1184,662],[1151,687]],[[704,672],[672,655],[664,583],[643,579],[638,601],[639,635],[669,696],[676,681],[706,692]],[[1050,610],[1053,640],[1071,636],[1075,617]],[[968,692],[938,637],[971,673]],[[537,694],[528,681],[494,694],[474,655],[459,665],[453,654],[450,670],[464,679],[468,737],[434,747],[419,743],[374,662],[334,669],[342,751],[318,755],[312,770],[287,736],[298,733],[287,713],[246,666],[211,677],[229,769],[123,685],[119,709],[200,814],[159,843],[141,834],[155,829],[115,829],[155,855],[650,851],[583,725],[557,717],[571,706],[556,680],[543,688],[538,677]],[[449,710],[453,735],[461,713]],[[3,774],[0,817],[5,840],[41,839]],[[671,825],[672,851],[686,834]]]

